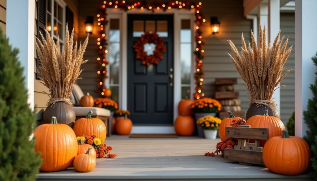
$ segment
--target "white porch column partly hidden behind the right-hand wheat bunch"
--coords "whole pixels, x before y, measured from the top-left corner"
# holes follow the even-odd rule
[[[268,0],[268,39],[274,42],[274,39],[280,31],[280,0]],[[280,84],[277,86],[280,87]],[[274,91],[272,98],[277,104],[277,110],[281,113],[281,89]]]

